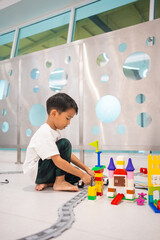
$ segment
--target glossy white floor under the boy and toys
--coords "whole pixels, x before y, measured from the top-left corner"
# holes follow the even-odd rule
[[[111,155],[102,153],[102,164],[108,166]],[[112,155],[116,160],[116,154]],[[126,163],[128,155],[123,155]],[[147,155],[135,154],[132,161],[136,170],[147,167]],[[24,153],[22,153],[22,160]],[[0,151],[0,239],[15,240],[37,233],[53,225],[58,218],[58,208],[77,193],[54,192],[52,188],[42,192],[34,190],[34,184],[22,173],[22,164],[15,164],[15,151]],[[94,167],[95,154],[86,154],[85,163]],[[17,173],[9,173],[16,171]],[[6,172],[4,174],[4,172]],[[2,174],[3,173],[3,174]],[[107,170],[105,171],[107,174]],[[136,177],[135,177],[136,178]],[[2,182],[7,179],[8,184]],[[147,178],[143,178],[147,181]],[[136,193],[147,193],[136,190]],[[75,222],[57,240],[159,240],[160,214],[155,214],[145,202],[121,202],[111,205],[106,196],[95,201],[87,198],[74,208]]]

